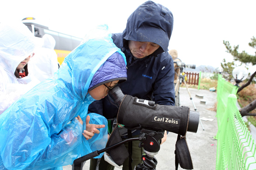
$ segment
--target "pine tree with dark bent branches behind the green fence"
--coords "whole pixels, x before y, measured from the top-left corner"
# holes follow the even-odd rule
[[[235,61],[240,61],[241,63],[245,63],[245,64],[247,64],[247,63],[251,63],[252,65],[256,64],[256,52],[255,52],[254,56],[253,55],[249,55],[244,50],[241,53],[239,53],[237,51],[239,45],[234,46],[234,49],[232,49],[232,47],[229,44],[229,41],[224,41],[223,40],[223,44],[226,46],[227,52],[230,53],[234,57]],[[251,42],[249,43],[249,46],[254,48],[254,49],[256,49],[256,38],[255,37],[251,38]],[[243,90],[243,88],[247,87],[252,82],[252,79],[253,79],[253,77],[255,75],[256,75],[256,72],[254,72],[250,76],[250,79],[249,79],[249,81],[247,83],[243,84],[243,86],[238,88],[237,93],[239,93],[241,90]],[[255,108],[256,108],[256,100],[252,101],[246,107],[241,108],[239,110],[239,112],[240,112],[241,116],[247,116],[247,115],[249,115],[249,116],[256,116],[256,113],[249,113],[250,111],[252,111]]]

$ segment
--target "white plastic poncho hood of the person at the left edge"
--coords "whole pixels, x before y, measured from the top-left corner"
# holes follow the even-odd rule
[[[34,52],[35,38],[21,22],[0,23],[0,67],[10,75]]]

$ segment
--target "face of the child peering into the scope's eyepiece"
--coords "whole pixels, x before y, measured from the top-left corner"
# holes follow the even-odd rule
[[[112,88],[113,86],[115,86],[115,84],[118,82],[119,80],[113,81],[113,82],[108,82],[105,85],[107,85],[109,88]],[[101,86],[98,86],[94,89],[92,89],[91,91],[89,91],[88,93],[95,99],[95,100],[101,100],[104,97],[106,97],[108,95],[108,91],[109,89],[104,86],[103,84]]]

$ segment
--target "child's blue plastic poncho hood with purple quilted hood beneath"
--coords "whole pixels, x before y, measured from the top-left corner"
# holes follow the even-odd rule
[[[115,52],[118,55],[113,55]],[[115,78],[126,80],[125,55],[113,43],[108,26],[100,25],[65,57],[54,77],[77,100],[84,101],[89,88]]]

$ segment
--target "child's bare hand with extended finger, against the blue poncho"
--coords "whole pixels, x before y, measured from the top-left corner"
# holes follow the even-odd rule
[[[105,127],[105,125],[89,124],[90,116],[86,117],[86,130],[83,132],[83,136],[88,140],[94,136],[94,133],[100,133],[99,128]],[[98,129],[97,129],[98,128]]]

